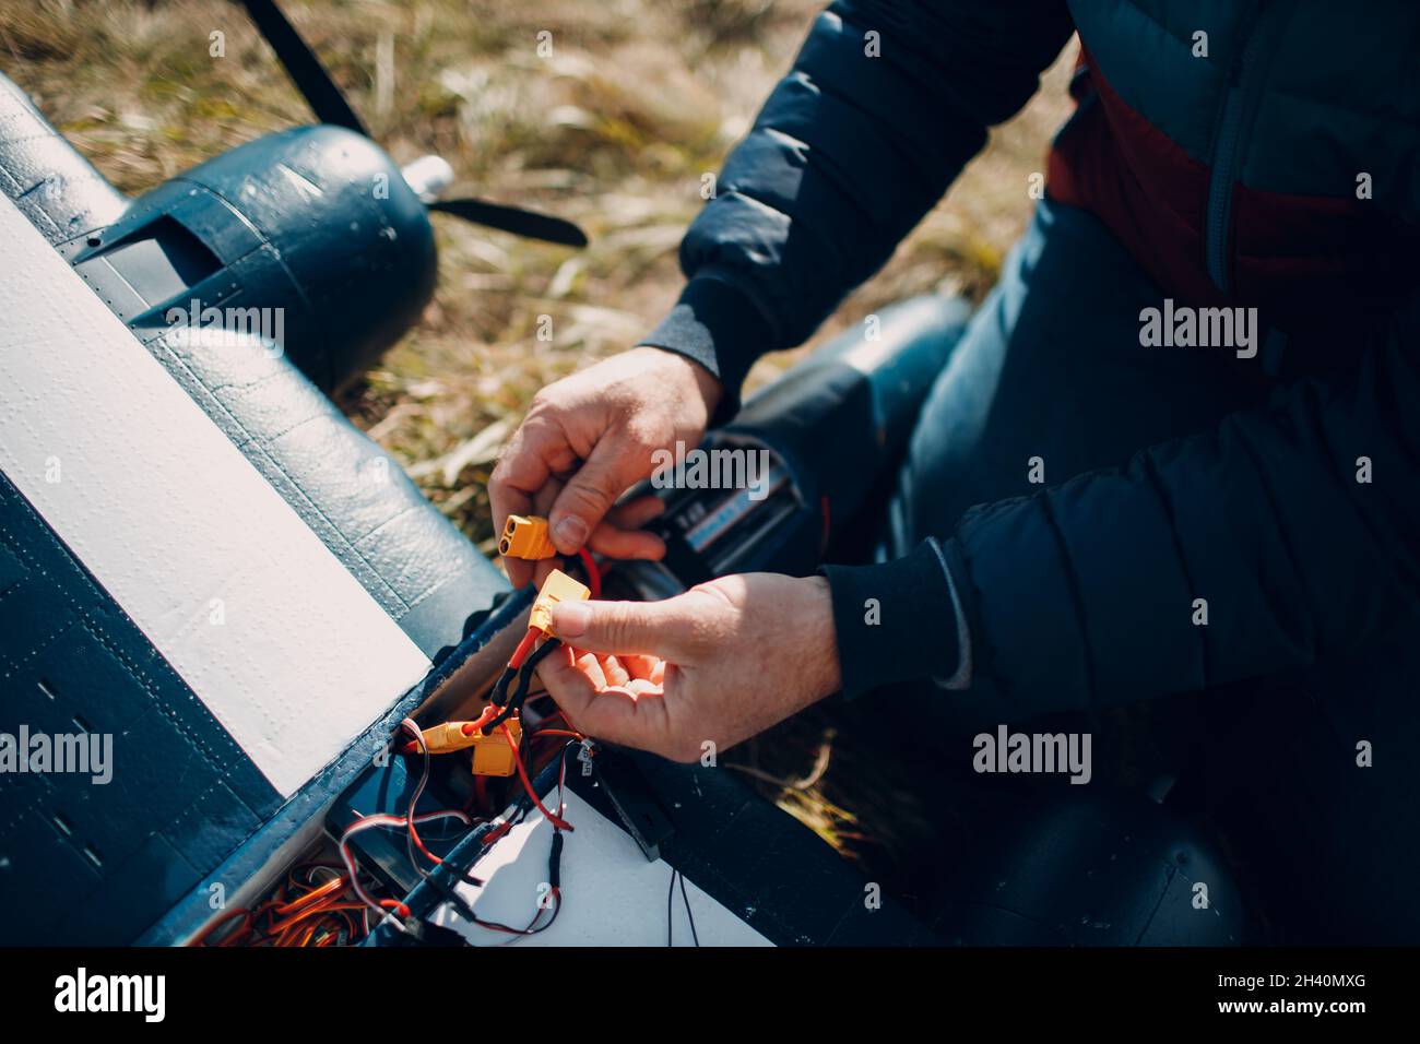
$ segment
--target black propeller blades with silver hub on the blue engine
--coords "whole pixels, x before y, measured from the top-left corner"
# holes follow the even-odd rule
[[[311,107],[315,118],[322,124],[344,126],[356,134],[371,138],[369,131],[355,109],[345,101],[341,88],[331,80],[331,74],[315,57],[315,53],[295,31],[295,26],[285,17],[275,0],[240,0],[247,9],[257,30],[271,44],[275,57],[285,67],[287,74]],[[453,168],[440,156],[423,156],[403,169],[405,180],[409,182],[415,193],[425,206],[439,213],[462,217],[473,224],[481,224],[500,232],[510,232],[514,236],[538,239],[545,243],[558,243],[569,247],[585,247],[586,233],[568,220],[540,214],[534,210],[493,203],[486,199],[467,196],[463,199],[439,199],[439,193],[453,182]]]

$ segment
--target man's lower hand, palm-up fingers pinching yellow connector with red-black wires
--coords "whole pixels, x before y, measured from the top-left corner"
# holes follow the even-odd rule
[[[723,577],[663,602],[561,602],[538,676],[588,736],[694,761],[838,690],[828,581]],[[601,655],[596,655],[601,653]]]

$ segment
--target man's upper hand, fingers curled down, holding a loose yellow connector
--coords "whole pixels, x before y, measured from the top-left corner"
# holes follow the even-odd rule
[[[657,449],[700,442],[720,393],[710,371],[660,348],[632,348],[548,385],[488,480],[494,531],[510,514],[541,514],[564,555],[589,544],[612,558],[660,558],[662,541],[636,528],[659,501],[612,504],[652,474]],[[514,587],[541,584],[554,565],[506,561]]]

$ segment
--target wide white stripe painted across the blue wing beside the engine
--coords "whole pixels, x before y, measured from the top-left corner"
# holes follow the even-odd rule
[[[0,469],[290,797],[429,659],[9,199],[0,243]]]

